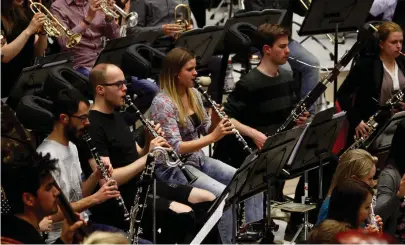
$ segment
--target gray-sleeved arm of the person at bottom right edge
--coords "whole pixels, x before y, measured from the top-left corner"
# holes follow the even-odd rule
[[[393,174],[393,171],[383,171],[378,180],[375,213],[381,216],[383,222],[387,222],[392,212],[401,204],[401,199],[397,196],[399,181],[396,183]]]

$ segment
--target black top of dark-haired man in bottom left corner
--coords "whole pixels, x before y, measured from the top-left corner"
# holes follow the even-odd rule
[[[1,216],[1,236],[24,244],[45,244],[44,239],[30,223],[14,215]]]

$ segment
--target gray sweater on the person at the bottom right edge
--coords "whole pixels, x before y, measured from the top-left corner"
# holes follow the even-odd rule
[[[396,193],[399,190],[401,178],[398,170],[388,165],[381,172],[377,184],[377,203],[374,212],[381,216],[384,232],[391,235],[395,235],[400,216],[401,199]]]

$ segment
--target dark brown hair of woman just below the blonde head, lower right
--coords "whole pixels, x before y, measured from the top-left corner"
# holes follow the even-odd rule
[[[327,219],[346,222],[357,229],[359,210],[368,194],[373,195],[373,189],[362,181],[348,179],[338,183],[330,197]]]

